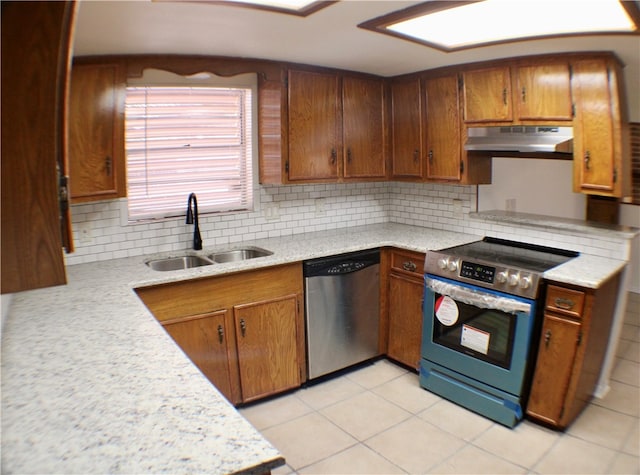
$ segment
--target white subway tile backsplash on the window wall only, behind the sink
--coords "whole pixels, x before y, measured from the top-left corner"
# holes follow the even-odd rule
[[[201,216],[204,247],[246,240],[383,223],[390,183],[261,186],[256,211]],[[186,211],[185,197],[185,211]],[[124,200],[71,207],[76,250],[69,265],[191,248],[193,225],[184,217],[128,224]]]

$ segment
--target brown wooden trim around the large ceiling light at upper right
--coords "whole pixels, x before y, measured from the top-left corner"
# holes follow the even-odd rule
[[[359,28],[363,28],[366,30],[375,31],[377,33],[383,33],[388,36],[395,36],[397,38],[402,38],[404,40],[408,40],[414,43],[422,44],[425,46],[429,46],[431,48],[443,51],[443,52],[454,52],[472,48],[479,48],[490,45],[497,44],[506,44],[506,43],[515,43],[520,41],[528,41],[528,40],[538,40],[538,39],[550,39],[550,38],[566,38],[566,37],[584,37],[584,36],[602,36],[602,35],[638,35],[640,34],[640,8],[638,4],[634,1],[621,1],[621,5],[629,16],[631,23],[635,26],[635,30],[633,31],[619,31],[619,30],[605,30],[605,31],[589,31],[589,32],[563,32],[563,33],[550,33],[550,34],[540,34],[540,35],[527,35],[517,38],[499,38],[495,40],[482,40],[479,42],[468,42],[465,44],[460,44],[456,46],[447,46],[441,43],[437,43],[435,41],[429,41],[425,38],[417,38],[415,36],[411,36],[409,34],[404,34],[400,31],[395,31],[390,29],[391,25],[396,25],[403,21],[414,20],[416,18],[430,15],[434,13],[443,12],[445,10],[449,10],[456,7],[461,7],[465,5],[472,5],[481,3],[482,0],[461,0],[461,1],[441,1],[434,0],[423,2],[418,5],[414,5],[403,10],[398,10],[396,12],[389,13],[387,15],[383,15],[372,20],[368,20],[366,22],[360,23],[358,25]],[[554,3],[549,3],[549,15],[553,15],[554,13]],[[575,8],[580,8],[580,3],[575,3]],[[482,22],[482,19],[478,20]],[[507,21],[507,20],[505,20]]]

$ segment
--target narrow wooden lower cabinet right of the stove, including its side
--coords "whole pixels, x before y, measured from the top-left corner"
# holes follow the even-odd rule
[[[620,273],[598,289],[548,286],[527,415],[557,429],[591,401],[609,344]]]

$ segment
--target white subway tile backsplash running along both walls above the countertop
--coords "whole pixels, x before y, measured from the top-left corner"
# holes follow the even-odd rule
[[[260,209],[200,216],[205,247],[290,236],[350,226],[395,222],[447,231],[526,241],[602,257],[629,258],[628,240],[556,229],[470,219],[477,186],[421,183],[351,183],[259,187]],[[186,200],[185,200],[186,203]],[[186,211],[186,204],[185,204]],[[120,200],[71,208],[76,250],[68,265],[191,248],[193,225],[184,218],[126,223]]]

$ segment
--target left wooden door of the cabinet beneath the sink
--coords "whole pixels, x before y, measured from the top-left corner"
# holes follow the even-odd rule
[[[162,323],[182,351],[231,402],[226,310],[194,315]]]

